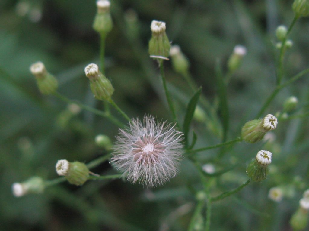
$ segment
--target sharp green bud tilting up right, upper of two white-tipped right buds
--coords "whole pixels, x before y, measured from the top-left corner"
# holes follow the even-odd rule
[[[277,118],[271,114],[260,120],[248,121],[241,129],[241,137],[248,143],[256,143],[263,139],[266,132],[275,129],[277,124]]]

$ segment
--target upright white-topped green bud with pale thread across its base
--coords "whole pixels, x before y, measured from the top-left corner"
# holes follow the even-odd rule
[[[151,58],[167,59],[170,54],[171,44],[165,33],[165,22],[155,21],[151,22],[152,36],[149,41],[149,54]]]

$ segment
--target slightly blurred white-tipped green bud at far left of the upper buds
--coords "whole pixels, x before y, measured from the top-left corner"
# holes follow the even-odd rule
[[[42,62],[30,66],[31,73],[36,77],[36,83],[43,95],[50,95],[57,91],[58,81],[50,74]]]

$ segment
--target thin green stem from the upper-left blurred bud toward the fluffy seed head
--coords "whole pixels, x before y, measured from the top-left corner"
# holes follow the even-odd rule
[[[77,104],[80,108],[84,109],[84,110],[87,110],[87,111],[90,111],[92,112],[93,114],[96,114],[96,115],[100,115],[102,117],[105,117],[109,120],[111,120],[114,124],[116,124],[117,126],[123,128],[124,127],[124,124],[122,124],[119,120],[117,120],[115,117],[113,117],[112,115],[110,115],[109,113],[107,112],[104,112],[104,111],[100,111],[98,109],[95,109],[93,107],[89,107],[83,103],[80,103],[76,100],[71,100],[69,98],[67,98],[66,96],[58,93],[58,92],[55,92],[53,94],[54,96],[56,96],[58,99],[61,99],[62,101],[66,102],[66,103],[75,103]]]

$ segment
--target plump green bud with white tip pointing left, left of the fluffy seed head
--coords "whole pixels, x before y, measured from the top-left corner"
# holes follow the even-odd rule
[[[65,176],[70,184],[83,185],[89,177],[89,169],[86,164],[75,161],[58,160],[56,172],[59,176]]]

